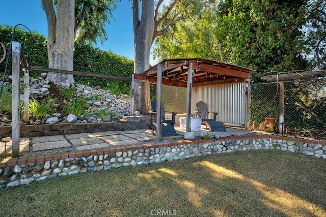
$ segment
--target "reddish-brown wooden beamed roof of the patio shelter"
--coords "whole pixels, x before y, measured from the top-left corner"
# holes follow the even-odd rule
[[[220,61],[203,58],[165,59],[162,66],[162,84],[169,86],[187,87],[188,68],[193,63],[193,87],[218,85],[233,82],[242,82],[249,78],[248,68],[239,67]],[[143,74],[134,74],[135,81],[157,83],[157,65],[145,71]]]

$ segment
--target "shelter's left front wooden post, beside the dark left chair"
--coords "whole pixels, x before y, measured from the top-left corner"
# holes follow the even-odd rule
[[[162,140],[162,65],[157,64],[156,140]],[[163,114],[164,115],[164,114]]]

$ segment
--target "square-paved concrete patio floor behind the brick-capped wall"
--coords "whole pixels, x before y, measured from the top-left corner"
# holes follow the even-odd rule
[[[177,136],[163,137],[160,143],[168,143],[165,140],[182,140],[185,130],[179,126],[175,126]],[[201,131],[207,131],[205,126],[202,126]],[[201,131],[194,132],[196,136],[201,134]],[[219,137],[239,137],[248,135],[252,132],[227,128],[226,132],[209,132],[210,135],[219,135]],[[255,133],[256,134],[256,133]],[[131,145],[137,143],[150,143],[156,141],[156,135],[152,134],[152,130],[128,130],[128,131],[105,131],[94,133],[79,133],[79,134],[66,134],[56,136],[42,136],[42,137],[24,137],[20,138],[20,153],[26,152],[39,152],[51,149],[67,149],[72,150],[86,150],[93,148],[112,147],[121,145]],[[11,141],[0,141],[0,156],[11,156]]]

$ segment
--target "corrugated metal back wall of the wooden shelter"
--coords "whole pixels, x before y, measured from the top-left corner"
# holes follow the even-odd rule
[[[220,112],[218,120],[229,126],[242,126],[246,123],[246,95],[243,83],[193,87],[192,113],[196,103],[208,104],[208,111]]]

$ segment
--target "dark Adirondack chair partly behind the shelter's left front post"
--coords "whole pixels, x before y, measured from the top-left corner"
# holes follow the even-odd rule
[[[156,104],[157,101],[156,100],[153,100],[151,102],[151,107],[152,107],[152,111],[149,112],[149,114],[151,115],[151,121],[152,121],[152,117],[154,116],[154,123],[152,121],[152,131],[154,133],[154,131],[156,132],[156,127],[157,127],[157,124],[156,124],[156,112],[157,112],[157,107],[156,107]],[[172,113],[172,119],[166,119],[165,118],[165,113]],[[175,136],[177,135],[176,134],[176,131],[174,129],[174,125],[175,125],[175,115],[177,114],[178,112],[173,112],[173,111],[165,111],[165,108],[164,108],[164,103],[162,102],[162,106],[161,106],[161,115],[162,115],[162,136]]]

